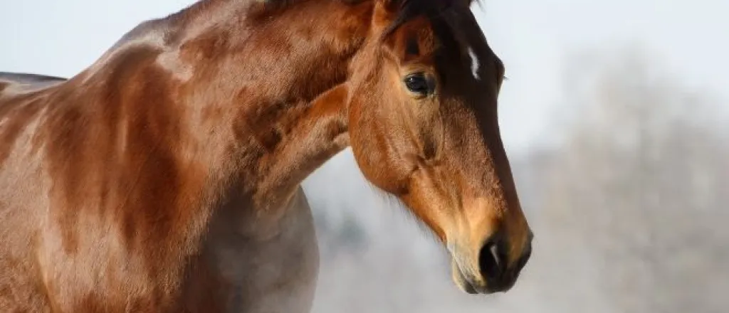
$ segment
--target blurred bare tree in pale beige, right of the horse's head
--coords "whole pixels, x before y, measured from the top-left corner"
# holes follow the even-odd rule
[[[591,256],[613,312],[725,312],[712,290],[729,290],[729,145],[703,119],[720,108],[644,55],[618,55],[572,77],[573,120],[541,181],[541,222],[558,229],[553,245]]]

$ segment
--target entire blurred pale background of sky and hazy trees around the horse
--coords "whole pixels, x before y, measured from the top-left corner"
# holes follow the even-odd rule
[[[55,76],[192,2],[0,1],[0,71]],[[531,261],[509,293],[461,293],[346,150],[304,183],[313,312],[729,312],[729,1],[483,2]]]

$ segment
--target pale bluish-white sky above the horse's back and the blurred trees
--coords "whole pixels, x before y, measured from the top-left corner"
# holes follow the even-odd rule
[[[190,0],[0,0],[0,71],[72,76],[142,20]],[[687,84],[726,96],[727,0],[484,0],[475,14],[507,66],[507,149],[526,148],[558,104],[570,53],[634,42]]]

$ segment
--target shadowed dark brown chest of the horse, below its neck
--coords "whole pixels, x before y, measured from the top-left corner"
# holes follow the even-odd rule
[[[225,303],[222,312],[310,311],[319,250],[303,191],[292,199],[276,223],[253,220],[243,223],[243,227],[224,214],[211,225],[203,260],[222,282],[215,296]]]

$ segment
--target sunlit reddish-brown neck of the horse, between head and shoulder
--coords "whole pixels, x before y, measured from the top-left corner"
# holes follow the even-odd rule
[[[209,0],[181,12],[156,63],[172,81],[180,143],[237,182],[254,206],[281,205],[348,144],[348,60],[364,41],[371,5]]]

